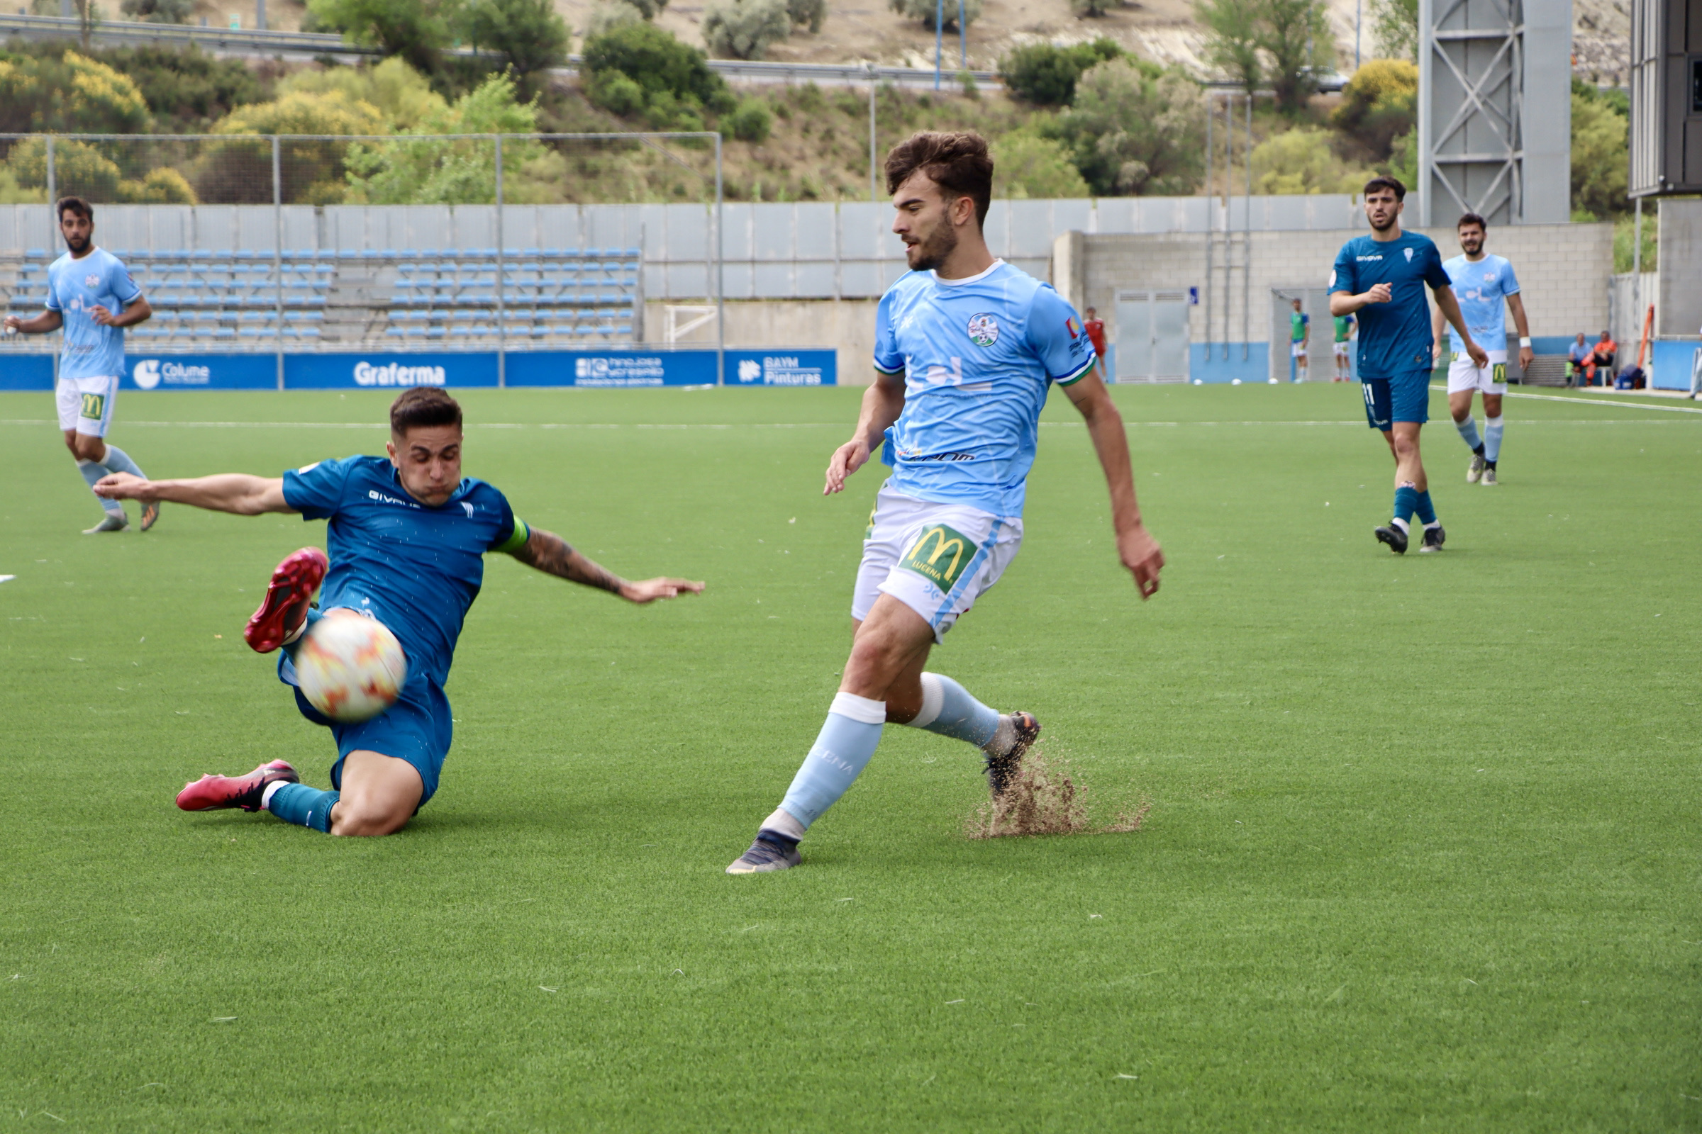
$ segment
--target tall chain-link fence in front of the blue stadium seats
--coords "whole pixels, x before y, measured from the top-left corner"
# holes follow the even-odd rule
[[[41,311],[46,265],[63,247],[48,206],[58,197],[83,197],[97,211],[272,206],[124,214],[121,228],[102,230],[102,247],[124,258],[155,309],[129,338],[155,350],[277,354],[637,343],[642,230],[613,238],[567,230],[540,223],[531,206],[693,204],[703,209],[701,301],[717,311],[718,343],[720,141],[713,133],[0,136],[0,189],[43,204],[39,235],[27,241],[36,247],[20,258],[0,253],[0,298],[10,315]],[[437,207],[327,216],[298,206]],[[383,231],[351,241],[349,224]],[[5,349],[51,350],[51,338],[7,337]]]

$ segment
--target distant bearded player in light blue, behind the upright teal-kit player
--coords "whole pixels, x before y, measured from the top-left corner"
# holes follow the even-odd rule
[[[1454,294],[1460,301],[1460,315],[1472,332],[1472,338],[1489,355],[1489,366],[1472,362],[1460,345],[1460,337],[1448,332],[1448,411],[1454,415],[1454,428],[1460,430],[1460,440],[1472,451],[1472,462],[1465,469],[1467,481],[1482,478],[1484,485],[1496,483],[1494,462],[1501,456],[1501,394],[1506,393],[1506,308],[1513,308],[1513,325],[1518,328],[1518,367],[1523,371],[1537,355],[1530,350],[1530,323],[1525,318],[1525,301],[1518,294],[1518,277],[1506,257],[1484,253],[1484,235],[1489,226],[1476,213],[1467,213],[1454,226],[1460,238],[1460,250],[1465,255],[1454,257],[1442,267],[1454,281]],[[1436,311],[1431,325],[1440,349],[1442,311]],[[1477,437],[1477,422],[1472,420],[1472,393],[1484,394],[1484,435]]]

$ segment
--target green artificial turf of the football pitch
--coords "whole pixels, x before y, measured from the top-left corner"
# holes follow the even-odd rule
[[[977,753],[890,728],[803,869],[728,877],[844,661],[858,393],[466,393],[468,474],[708,592],[492,556],[443,785],[383,840],[172,806],[327,785],[240,636],[323,527],[83,537],[49,396],[0,396],[0,1129],[1702,1125],[1690,403],[1510,400],[1486,490],[1436,394],[1448,547],[1394,558],[1356,388],[1117,389],[1142,604],[1054,396],[1026,546],[933,668],[1145,828],[970,840]],[[124,394],[112,440],[276,474],[378,452],[386,401]]]

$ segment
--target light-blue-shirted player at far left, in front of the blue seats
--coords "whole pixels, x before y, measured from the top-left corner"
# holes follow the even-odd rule
[[[148,299],[129,277],[124,262],[94,243],[95,211],[82,197],[60,197],[54,206],[60,235],[70,250],[48,265],[48,309],[32,320],[9,315],[7,333],[46,335],[65,328],[60,350],[60,384],[54,391],[65,447],[77,457],[77,469],[94,488],[107,473],[141,469],[117,445],[106,444],[117,401],[117,379],[124,372],[124,328],[153,315]],[[87,529],[121,532],[129,527],[124,505],[97,495],[106,519]],[[141,530],[160,519],[160,505],[141,510]]]

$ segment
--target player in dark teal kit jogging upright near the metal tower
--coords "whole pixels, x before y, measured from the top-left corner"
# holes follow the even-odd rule
[[[1406,554],[1408,529],[1418,513],[1425,525],[1419,551],[1442,551],[1447,534],[1430,502],[1425,461],[1418,451],[1418,434],[1430,420],[1430,304],[1425,284],[1436,298],[1436,308],[1459,332],[1465,354],[1479,367],[1488,366],[1482,347],[1460,316],[1460,304],[1442,267],[1442,253],[1430,236],[1401,231],[1406,185],[1394,177],[1365,182],[1365,219],[1368,236],[1355,236],[1336,253],[1336,270],[1329,274],[1329,313],[1351,315],[1360,323],[1360,386],[1365,393],[1365,420],[1382,430],[1394,454],[1394,519],[1375,536],[1396,554]]]

